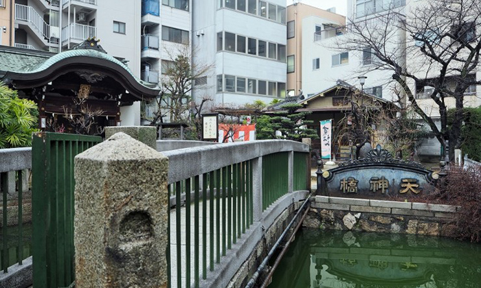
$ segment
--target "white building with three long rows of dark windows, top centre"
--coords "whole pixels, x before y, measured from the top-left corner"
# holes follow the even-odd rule
[[[271,102],[286,95],[286,1],[193,1],[194,67],[210,67],[194,83],[195,99],[214,105]]]

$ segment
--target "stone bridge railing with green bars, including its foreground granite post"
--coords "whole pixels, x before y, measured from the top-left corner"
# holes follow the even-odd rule
[[[115,134],[76,157],[77,287],[245,283],[232,277],[308,196],[308,164],[294,141],[159,153]]]

